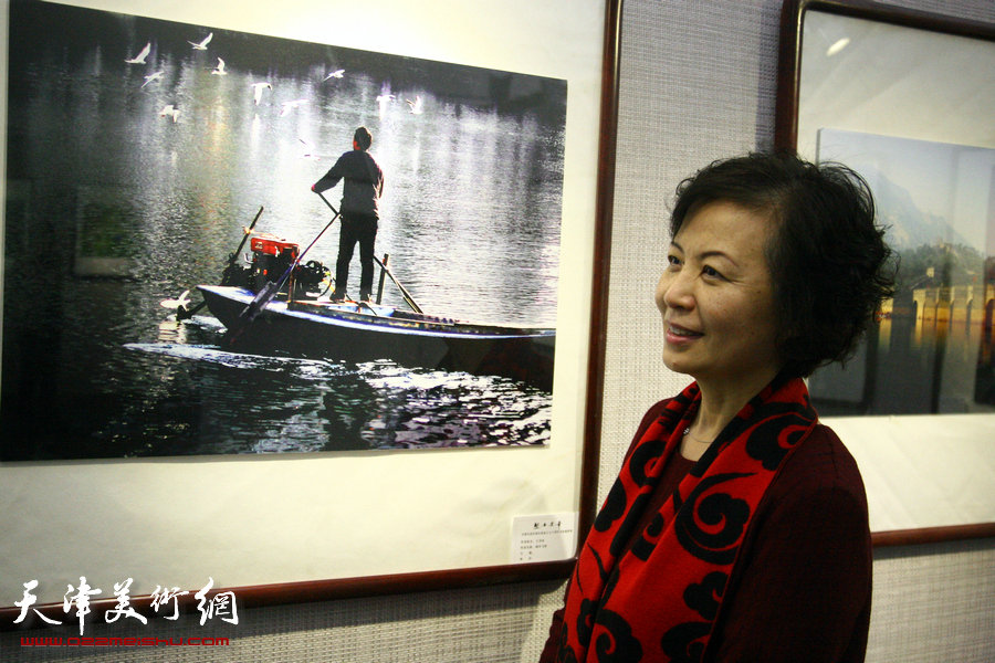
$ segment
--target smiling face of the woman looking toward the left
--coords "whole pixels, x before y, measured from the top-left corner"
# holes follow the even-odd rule
[[[766,215],[725,201],[705,203],[684,220],[656,293],[668,368],[699,382],[763,385],[781,369],[764,257],[771,225]]]

